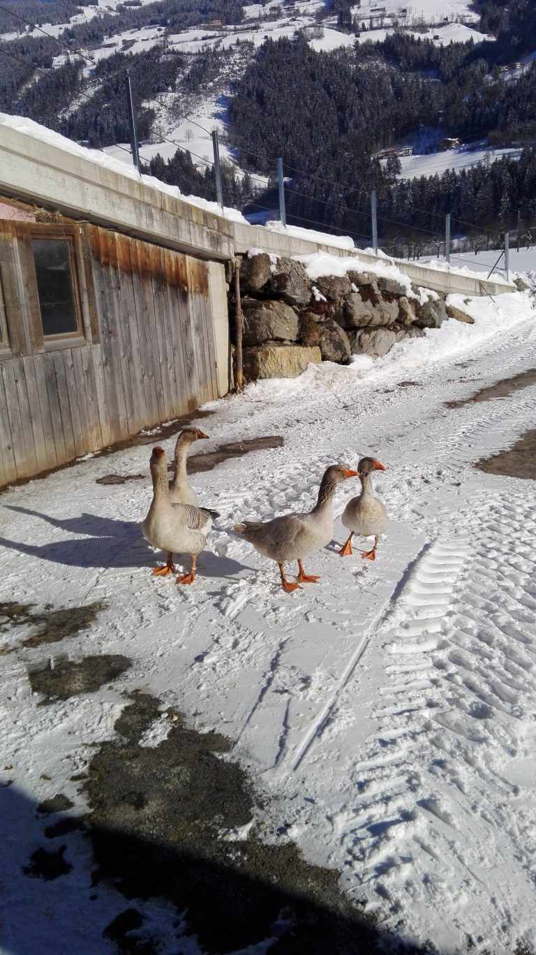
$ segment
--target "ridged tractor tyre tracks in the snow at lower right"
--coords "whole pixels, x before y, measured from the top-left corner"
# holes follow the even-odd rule
[[[463,535],[436,541],[416,565],[385,645],[393,658],[382,693],[388,705],[375,712],[368,758],[354,765],[362,794],[341,840],[347,864],[394,913],[411,904],[414,922],[419,908],[440,898],[441,950],[456,933],[467,939],[479,918],[482,944],[490,931],[513,950],[533,910],[526,846],[534,815],[518,821],[507,802],[515,796],[508,766],[523,767],[532,752],[531,740],[518,738],[518,710],[533,698],[536,649],[534,615],[520,611],[524,594],[527,609],[536,606],[531,497],[484,500],[468,519],[460,516]]]

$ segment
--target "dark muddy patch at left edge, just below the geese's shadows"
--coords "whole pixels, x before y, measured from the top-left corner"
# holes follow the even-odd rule
[[[80,630],[86,630],[96,618],[99,610],[106,605],[102,601],[82,606],[61,607],[54,610],[50,604],[43,610],[33,610],[33,604],[18,604],[15,601],[0,603],[0,632],[6,632],[6,624],[11,626],[35,626],[36,632],[22,641],[23,647],[40,647],[42,644],[55,644],[66,637],[72,637]]]

